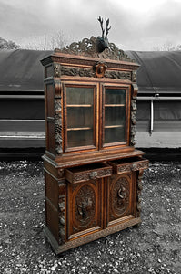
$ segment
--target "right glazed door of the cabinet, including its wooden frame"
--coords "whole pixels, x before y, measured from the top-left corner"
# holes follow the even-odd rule
[[[129,86],[101,86],[101,147],[126,145],[129,135]]]

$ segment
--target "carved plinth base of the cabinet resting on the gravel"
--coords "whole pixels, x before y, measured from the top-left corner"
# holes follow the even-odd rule
[[[55,237],[51,233],[48,227],[44,228],[45,237],[47,237],[48,241],[50,242],[52,248],[54,249],[56,254],[62,253],[68,249],[76,248],[78,246],[84,245],[86,243],[89,243],[91,241],[94,241],[100,237],[106,237],[109,234],[113,234],[115,232],[118,232],[120,230],[126,229],[127,227],[133,227],[136,225],[139,225],[141,223],[141,218],[133,218],[129,221],[126,221],[124,223],[115,225],[113,227],[106,227],[103,230],[100,230],[96,233],[89,234],[85,237],[79,237],[74,240],[70,240],[65,242],[63,245],[58,245],[57,241],[55,240]]]

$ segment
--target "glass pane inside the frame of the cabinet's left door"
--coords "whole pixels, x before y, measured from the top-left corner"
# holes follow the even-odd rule
[[[94,88],[66,88],[67,147],[94,145]]]

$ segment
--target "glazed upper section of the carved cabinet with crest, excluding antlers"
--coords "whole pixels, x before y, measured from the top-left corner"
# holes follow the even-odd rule
[[[139,66],[114,44],[101,53],[96,47],[91,37],[55,49],[41,61],[46,153],[103,152],[135,144]]]

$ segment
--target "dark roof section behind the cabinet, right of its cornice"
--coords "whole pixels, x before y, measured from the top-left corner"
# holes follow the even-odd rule
[[[140,65],[139,93],[181,92],[181,51],[127,51]]]

